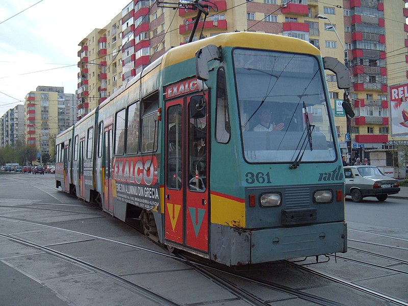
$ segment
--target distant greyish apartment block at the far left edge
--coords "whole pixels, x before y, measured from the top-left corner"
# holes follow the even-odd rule
[[[15,146],[18,142],[25,143],[24,137],[24,106],[17,105],[9,109],[0,119],[0,146]]]

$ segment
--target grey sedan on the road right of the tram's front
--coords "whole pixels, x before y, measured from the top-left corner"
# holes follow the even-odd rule
[[[384,175],[375,166],[347,166],[343,169],[346,195],[351,195],[354,202],[361,202],[367,196],[385,201],[389,194],[396,194],[400,190],[398,180]]]

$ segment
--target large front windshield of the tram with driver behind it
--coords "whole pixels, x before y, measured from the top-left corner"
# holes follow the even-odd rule
[[[235,49],[233,57],[247,162],[334,161],[333,125],[317,59],[247,49]]]

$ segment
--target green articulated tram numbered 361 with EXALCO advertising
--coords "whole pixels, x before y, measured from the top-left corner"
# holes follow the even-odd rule
[[[226,33],[170,49],[57,136],[56,187],[228,266],[346,252],[324,69],[296,38]]]

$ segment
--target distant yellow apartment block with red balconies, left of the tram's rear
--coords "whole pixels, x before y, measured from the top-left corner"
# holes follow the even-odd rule
[[[64,93],[64,87],[38,86],[25,96],[25,135],[28,145],[38,152],[54,154],[50,136],[77,122],[77,97]]]

